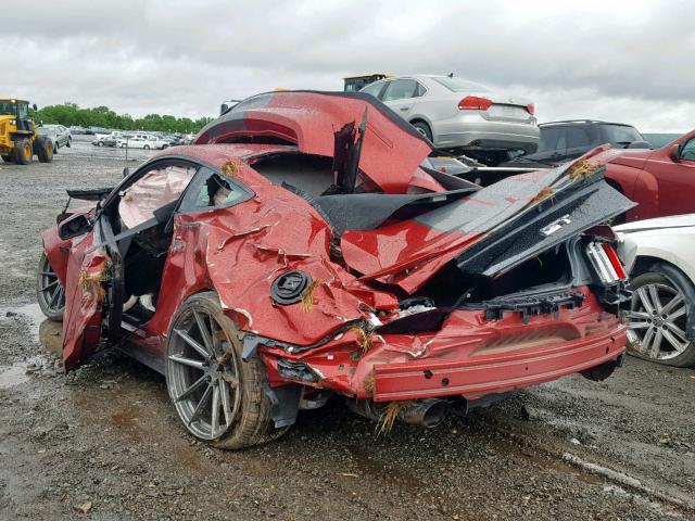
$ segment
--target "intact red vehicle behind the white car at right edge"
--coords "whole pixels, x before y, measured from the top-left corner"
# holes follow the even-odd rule
[[[695,213],[695,130],[661,149],[604,154],[608,183],[640,203],[627,221]]]

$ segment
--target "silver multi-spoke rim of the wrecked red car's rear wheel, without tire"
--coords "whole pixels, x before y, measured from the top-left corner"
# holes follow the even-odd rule
[[[166,381],[188,430],[217,440],[239,412],[240,368],[229,332],[202,306],[180,315],[170,332]]]

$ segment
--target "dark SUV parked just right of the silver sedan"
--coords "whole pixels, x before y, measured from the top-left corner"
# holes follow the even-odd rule
[[[631,125],[593,119],[571,119],[539,125],[541,142],[533,154],[521,155],[500,166],[557,165],[609,143],[620,149],[648,149],[649,143]]]

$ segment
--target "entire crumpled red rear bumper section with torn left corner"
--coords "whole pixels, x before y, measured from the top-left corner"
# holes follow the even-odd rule
[[[556,380],[618,359],[626,329],[587,289],[583,304],[525,318],[457,309],[438,331],[383,334],[363,353],[352,330],[303,353],[263,350],[271,386],[290,382],[375,402],[488,394]],[[279,361],[279,365],[278,365]],[[280,366],[280,367],[279,367]]]

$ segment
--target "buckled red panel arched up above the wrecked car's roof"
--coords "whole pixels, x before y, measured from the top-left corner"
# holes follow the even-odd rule
[[[386,193],[405,193],[431,143],[364,92],[279,91],[249,98],[206,125],[194,144],[283,142],[332,157],[334,132],[367,112],[359,169]],[[397,158],[397,161],[394,161]]]

